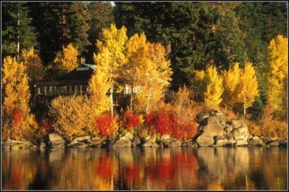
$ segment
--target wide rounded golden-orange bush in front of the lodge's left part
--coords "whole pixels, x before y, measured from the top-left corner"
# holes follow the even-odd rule
[[[65,138],[95,136],[92,107],[87,96],[58,96],[52,100],[50,116],[54,130]]]

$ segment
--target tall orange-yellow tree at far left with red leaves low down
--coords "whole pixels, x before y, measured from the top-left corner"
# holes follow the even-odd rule
[[[23,62],[17,62],[10,56],[4,58],[2,67],[2,82],[4,89],[3,131],[8,132],[8,138],[23,138],[23,120],[29,116],[30,92],[27,69]],[[7,129],[7,130],[5,130]]]

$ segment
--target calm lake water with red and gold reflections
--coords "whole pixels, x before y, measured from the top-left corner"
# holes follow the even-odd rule
[[[287,149],[2,151],[3,189],[287,189]]]

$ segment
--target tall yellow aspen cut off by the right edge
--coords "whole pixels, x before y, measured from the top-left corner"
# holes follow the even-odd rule
[[[286,97],[288,76],[288,40],[282,35],[277,35],[272,39],[268,45],[268,60],[269,65],[265,69],[266,93],[268,96],[268,103],[272,105],[273,110],[276,111],[282,107],[282,103]],[[286,105],[287,106],[287,105]]]

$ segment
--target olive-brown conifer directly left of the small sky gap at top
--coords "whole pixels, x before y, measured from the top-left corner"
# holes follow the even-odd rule
[[[96,40],[99,39],[100,32],[103,28],[109,28],[110,24],[114,23],[114,8],[109,2],[89,2],[87,8],[90,15],[87,39],[91,45],[88,46],[86,61],[92,63],[94,53],[97,52]]]

